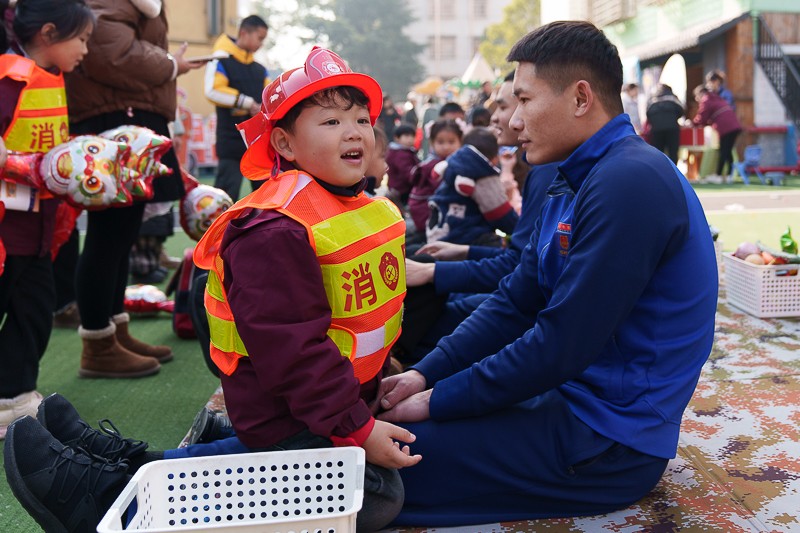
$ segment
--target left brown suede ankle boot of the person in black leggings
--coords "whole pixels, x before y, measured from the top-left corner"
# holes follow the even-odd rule
[[[126,350],[117,342],[117,326],[109,323],[103,329],[78,328],[83,339],[81,368],[78,375],[83,378],[141,378],[161,370],[161,365],[152,357],[145,357]]]

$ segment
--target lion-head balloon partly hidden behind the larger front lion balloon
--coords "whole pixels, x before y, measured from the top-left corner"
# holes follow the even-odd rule
[[[130,146],[131,155],[125,166],[136,171],[138,177],[126,181],[125,188],[134,199],[149,200],[153,197],[153,179],[172,174],[172,169],[161,163],[161,157],[172,146],[169,137],[132,125],[104,131],[100,137]]]

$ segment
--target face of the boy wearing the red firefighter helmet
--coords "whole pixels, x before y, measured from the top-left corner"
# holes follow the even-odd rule
[[[367,108],[344,107],[341,101],[330,102],[328,107],[306,107],[293,131],[282,130],[285,146],[278,150],[297,168],[338,187],[361,181],[375,150]]]

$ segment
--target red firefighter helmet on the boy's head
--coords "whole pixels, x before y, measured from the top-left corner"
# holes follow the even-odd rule
[[[261,111],[237,126],[247,144],[241,162],[242,174],[248,179],[264,179],[264,171],[277,172],[278,156],[270,144],[275,122],[286,115],[298,102],[330,87],[349,86],[360,90],[369,100],[372,125],[383,106],[383,94],[378,82],[353,72],[344,60],[325,48],[315,46],[305,65],[284,72],[270,83],[261,95]]]

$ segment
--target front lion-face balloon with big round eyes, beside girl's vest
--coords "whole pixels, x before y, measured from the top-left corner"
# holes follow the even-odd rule
[[[125,166],[129,156],[126,144],[81,135],[47,152],[40,172],[50,192],[76,207],[125,206],[132,198],[123,183],[138,178]]]

